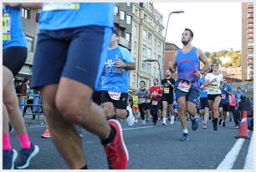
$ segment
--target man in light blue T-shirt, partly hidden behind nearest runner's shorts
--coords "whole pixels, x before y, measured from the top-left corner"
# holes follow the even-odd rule
[[[128,71],[136,68],[134,59],[128,49],[118,46],[118,33],[114,31],[111,36],[110,48],[105,60],[104,82],[102,84],[101,101],[106,111],[107,119],[127,119],[132,126],[135,118],[128,103]]]

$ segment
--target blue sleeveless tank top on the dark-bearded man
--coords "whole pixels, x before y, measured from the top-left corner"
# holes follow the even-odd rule
[[[197,48],[192,47],[189,53],[177,50],[177,78],[187,81],[198,81],[193,73],[200,70],[200,62],[197,57]]]

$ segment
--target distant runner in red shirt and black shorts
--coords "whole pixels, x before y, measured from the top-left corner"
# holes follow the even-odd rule
[[[153,116],[153,124],[156,125],[157,113],[161,103],[161,87],[158,85],[158,79],[153,79],[154,85],[151,87],[151,115]]]

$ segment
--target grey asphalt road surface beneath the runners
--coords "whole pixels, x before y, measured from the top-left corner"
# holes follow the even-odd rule
[[[33,144],[38,144],[40,148],[39,154],[31,161],[28,169],[68,169],[64,159],[54,148],[52,140],[40,138],[45,126],[40,125],[37,120],[26,120],[26,123]],[[213,133],[210,121],[207,129],[202,129],[200,121],[197,131],[192,131],[189,121],[190,140],[186,142],[179,141],[182,134],[179,122],[167,126],[161,126],[160,123],[152,126],[150,122],[146,126],[136,123],[133,127],[128,127],[125,121],[120,124],[130,154],[129,169],[217,169],[223,161],[225,166],[232,160],[230,169],[243,169],[251,141],[245,139],[238,156],[232,155],[232,158],[228,158],[227,154],[233,154],[231,149],[238,141],[234,138],[238,129],[232,128],[233,122],[228,122],[225,128],[218,127],[218,133]],[[11,134],[11,141],[14,149],[20,148],[15,133]],[[83,141],[88,167],[107,169],[107,159],[100,139],[84,131]]]

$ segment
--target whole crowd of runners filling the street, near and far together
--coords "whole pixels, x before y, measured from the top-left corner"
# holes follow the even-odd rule
[[[183,48],[168,63],[165,78],[155,78],[150,89],[141,81],[129,94],[129,70],[139,64],[118,45],[113,3],[3,3],[3,169],[25,169],[39,152],[27,134],[13,84],[27,58],[20,8],[42,9],[32,88],[43,98],[49,137],[70,169],[88,169],[78,131],[82,128],[100,138],[110,169],[127,169],[129,153],[119,119],[129,126],[146,121],[165,126],[179,120],[180,140],[186,141],[187,119],[192,130],[197,130],[200,118],[203,129],[212,119],[217,131],[218,124],[225,127],[232,116],[238,127],[238,109],[248,110],[242,90],[234,94],[218,63],[210,65],[192,46],[189,28],[182,33]],[[177,73],[176,80],[171,73]],[[21,144],[19,152],[12,147],[9,122]]]

